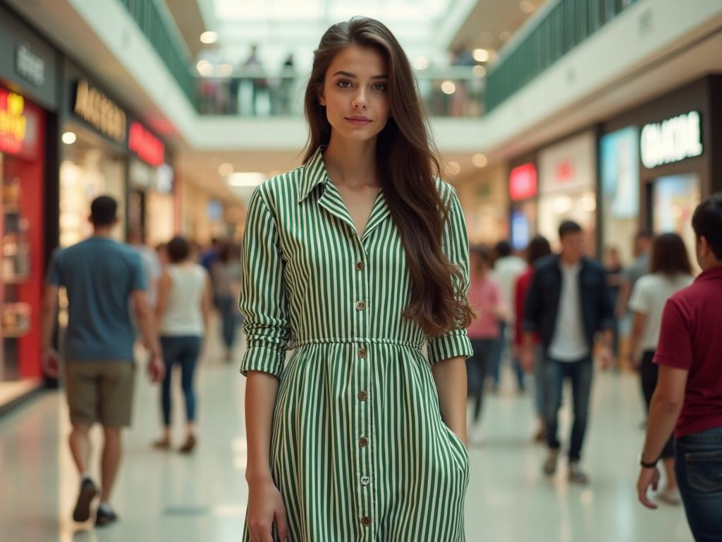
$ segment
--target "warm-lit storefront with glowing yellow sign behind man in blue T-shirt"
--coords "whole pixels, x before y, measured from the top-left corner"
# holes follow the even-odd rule
[[[92,233],[90,203],[102,194],[118,200],[125,238],[128,116],[86,74],[66,61],[66,115],[61,127],[60,245],[70,246]]]

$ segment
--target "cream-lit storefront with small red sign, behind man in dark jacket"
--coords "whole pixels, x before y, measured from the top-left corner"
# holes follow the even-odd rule
[[[598,254],[596,225],[596,134],[588,130],[538,153],[538,231],[559,247],[559,225],[575,220],[584,228],[586,253]]]

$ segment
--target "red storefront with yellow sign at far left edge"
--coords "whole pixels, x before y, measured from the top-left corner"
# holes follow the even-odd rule
[[[41,384],[45,194],[56,171],[56,51],[0,6],[0,410]]]

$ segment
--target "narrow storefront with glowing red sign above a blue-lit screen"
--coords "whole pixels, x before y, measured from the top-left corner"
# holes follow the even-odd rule
[[[509,171],[509,216],[511,246],[523,251],[536,235],[538,173],[534,156],[514,160]]]

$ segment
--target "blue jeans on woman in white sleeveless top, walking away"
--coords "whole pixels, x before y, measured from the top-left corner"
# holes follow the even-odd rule
[[[186,419],[188,422],[196,420],[196,393],[193,391],[193,375],[196,372],[196,363],[201,354],[201,337],[187,335],[183,337],[160,337],[163,348],[163,363],[165,364],[165,377],[161,385],[160,405],[163,411],[163,424],[170,426],[170,377],[173,366],[181,366],[181,387],[186,397]]]

